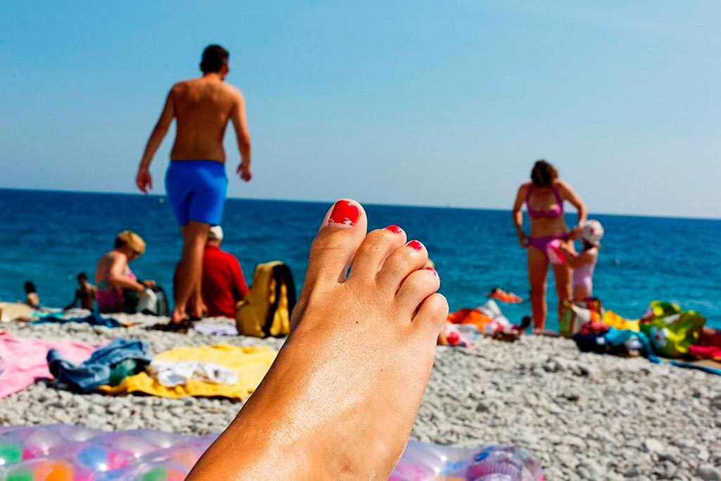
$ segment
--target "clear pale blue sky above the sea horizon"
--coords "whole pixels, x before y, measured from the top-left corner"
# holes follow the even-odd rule
[[[63,3],[0,7],[0,187],[134,192],[220,43],[254,151],[233,197],[509,208],[544,157],[592,212],[721,216],[717,1]]]

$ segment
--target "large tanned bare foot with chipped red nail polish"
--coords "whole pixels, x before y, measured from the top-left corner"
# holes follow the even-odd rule
[[[293,331],[188,480],[387,480],[401,456],[448,314],[423,244],[366,237],[339,200],[311,245]],[[348,268],[353,263],[350,275]]]

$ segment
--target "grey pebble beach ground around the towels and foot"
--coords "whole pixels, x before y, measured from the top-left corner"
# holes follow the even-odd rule
[[[137,337],[149,342],[151,355],[185,345],[277,349],[283,343],[142,327],[4,323],[0,329],[92,344]],[[205,434],[222,431],[241,406],[224,399],[74,394],[40,381],[0,400],[0,425]],[[470,349],[437,348],[412,438],[466,447],[515,444],[539,459],[549,481],[721,480],[721,376],[580,353],[572,341],[559,338],[480,338]]]

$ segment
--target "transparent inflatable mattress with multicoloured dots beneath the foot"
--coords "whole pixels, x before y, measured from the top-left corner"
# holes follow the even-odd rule
[[[182,481],[215,435],[105,433],[71,425],[0,428],[0,481]],[[392,481],[543,481],[512,446],[458,449],[410,441]]]

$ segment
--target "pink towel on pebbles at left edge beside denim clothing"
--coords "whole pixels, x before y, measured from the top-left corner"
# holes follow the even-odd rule
[[[94,346],[64,339],[27,339],[0,331],[0,398],[22,391],[35,379],[53,379],[48,371],[48,350],[56,348],[68,361],[79,364]]]

